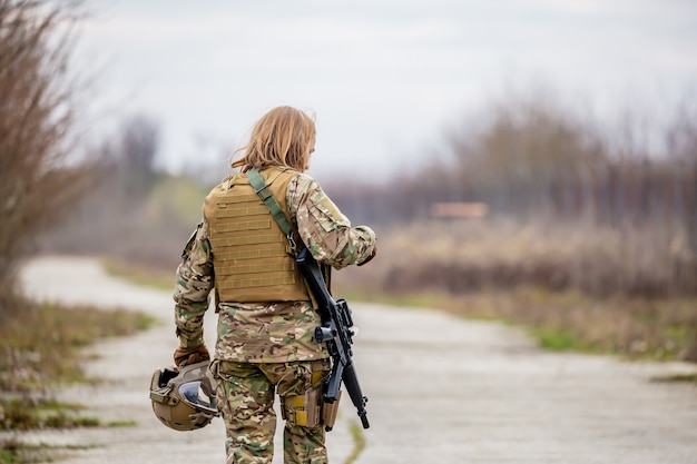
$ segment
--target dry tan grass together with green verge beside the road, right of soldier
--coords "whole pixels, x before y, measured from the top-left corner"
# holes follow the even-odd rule
[[[670,290],[664,231],[507,221],[379,230],[379,256],[338,292],[530,327],[542,346],[697,361],[697,297]]]

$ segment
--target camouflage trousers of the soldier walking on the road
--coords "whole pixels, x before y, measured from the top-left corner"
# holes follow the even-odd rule
[[[214,361],[217,404],[226,428],[226,464],[271,464],[274,454],[275,393],[302,395],[328,375],[330,361],[232,363]],[[313,373],[316,373],[313,375]],[[321,374],[320,374],[321,373]],[[326,464],[324,425],[285,424],[285,464]]]

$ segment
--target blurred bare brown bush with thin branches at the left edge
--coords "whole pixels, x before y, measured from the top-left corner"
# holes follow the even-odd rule
[[[68,134],[75,2],[0,0],[0,295],[11,293],[33,238],[78,191]],[[0,299],[0,318],[7,312]]]

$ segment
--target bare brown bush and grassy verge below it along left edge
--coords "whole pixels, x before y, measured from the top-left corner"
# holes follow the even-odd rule
[[[0,463],[53,460],[58,450],[26,444],[36,428],[110,426],[79,404],[56,401],[86,378],[84,348],[146,328],[119,309],[65,307],[28,299],[18,272],[38,237],[68,215],[102,172],[79,147],[76,115],[85,82],[70,55],[80,1],[0,0]],[[90,154],[94,155],[94,154]]]

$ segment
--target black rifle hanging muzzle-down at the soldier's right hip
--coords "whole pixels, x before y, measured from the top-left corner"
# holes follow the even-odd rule
[[[324,284],[322,272],[317,261],[306,247],[303,247],[295,258],[307,287],[312,292],[322,317],[322,325],[315,328],[315,339],[325,343],[332,357],[332,373],[325,384],[324,402],[334,403],[338,401],[342,381],[346,385],[346,392],[351,396],[351,402],[356,407],[363,428],[370,427],[365,403],[367,397],[361,393],[361,385],[353,366],[353,336],[356,329],[353,327],[351,308],[345,299],[334,300]],[[331,426],[325,426],[330,432]]]

